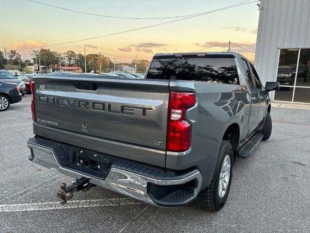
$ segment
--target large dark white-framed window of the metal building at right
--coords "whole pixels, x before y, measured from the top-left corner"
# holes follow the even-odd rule
[[[280,49],[274,100],[310,103],[310,49]]]

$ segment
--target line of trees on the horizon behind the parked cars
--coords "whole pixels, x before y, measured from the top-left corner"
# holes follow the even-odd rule
[[[41,66],[53,67],[53,71],[61,65],[62,67],[81,67],[83,72],[85,72],[84,55],[81,53],[75,53],[72,50],[59,53],[57,51],[42,48],[41,50],[32,51],[31,60],[21,59],[20,54],[16,50],[5,52],[0,50],[0,69],[3,69],[4,65],[14,65],[23,68],[34,64],[41,64]],[[99,71],[100,63],[101,72],[108,72],[108,69],[109,71],[114,70],[114,63],[109,57],[99,55],[98,53],[89,53],[86,55],[86,72],[90,72],[91,70]],[[148,64],[148,60],[137,60],[137,72],[144,73]],[[128,63],[116,63],[115,69],[119,70],[121,65],[135,67],[136,60],[132,60]]]

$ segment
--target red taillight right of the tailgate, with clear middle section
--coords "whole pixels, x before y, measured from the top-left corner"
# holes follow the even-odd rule
[[[196,103],[195,94],[171,92],[168,112],[167,150],[186,151],[190,147],[191,125],[186,120],[186,110]]]

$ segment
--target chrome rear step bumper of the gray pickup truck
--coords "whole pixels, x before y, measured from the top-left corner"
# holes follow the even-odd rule
[[[197,197],[202,185],[202,175],[197,169],[186,172],[186,174],[183,173],[182,176],[171,176],[170,178],[170,176],[161,174],[157,178],[112,165],[107,175],[100,179],[91,174],[62,166],[58,160],[59,155],[56,154],[60,150],[53,150],[53,147],[50,146],[53,142],[41,138],[38,140],[40,140],[40,143],[37,143],[36,138],[31,138],[27,142],[31,150],[29,159],[33,163],[76,179],[87,178],[90,183],[148,204],[166,207],[185,205]],[[60,146],[60,144],[56,145]],[[66,155],[60,156],[64,157]],[[143,165],[137,166],[140,166],[138,170],[143,171]],[[163,178],[160,179],[160,177]]]

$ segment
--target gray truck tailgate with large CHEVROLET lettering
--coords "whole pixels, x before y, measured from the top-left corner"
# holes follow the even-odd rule
[[[169,81],[73,76],[35,78],[36,135],[165,166]]]

